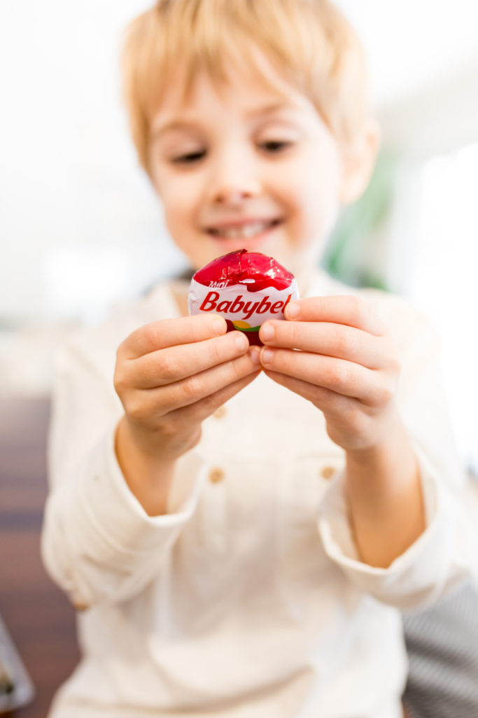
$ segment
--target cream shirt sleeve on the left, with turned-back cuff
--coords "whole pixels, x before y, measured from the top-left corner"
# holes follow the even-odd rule
[[[73,342],[60,355],[42,557],[54,581],[83,608],[128,600],[161,572],[193,515],[205,472],[195,452],[181,457],[168,513],[148,516],[116,460],[122,410],[111,383],[81,345]]]

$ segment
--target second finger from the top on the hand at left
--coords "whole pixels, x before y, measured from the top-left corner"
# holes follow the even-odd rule
[[[245,354],[248,349],[249,342],[242,332],[229,332],[214,339],[150,352],[135,359],[130,370],[135,372],[135,386],[150,389],[199,374]]]

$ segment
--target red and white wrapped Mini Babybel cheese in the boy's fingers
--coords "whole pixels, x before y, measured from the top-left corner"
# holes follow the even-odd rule
[[[249,344],[262,345],[261,325],[268,319],[285,319],[285,307],[292,299],[299,299],[299,292],[290,271],[272,257],[240,249],[196,271],[188,306],[190,314],[220,314],[228,332],[239,330]]]

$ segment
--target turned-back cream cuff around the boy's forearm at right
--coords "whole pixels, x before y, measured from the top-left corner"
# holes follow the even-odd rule
[[[420,449],[416,449],[424,494],[426,528],[386,569],[360,561],[348,520],[345,472],[333,480],[320,505],[317,525],[326,554],[360,591],[402,610],[434,602],[445,584],[462,578],[452,569],[454,497],[446,492]],[[459,575],[460,574],[460,575]]]

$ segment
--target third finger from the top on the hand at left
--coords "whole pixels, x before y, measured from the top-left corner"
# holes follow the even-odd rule
[[[168,414],[181,406],[189,406],[220,391],[259,368],[259,351],[251,348],[247,354],[236,359],[206,369],[194,376],[188,376],[176,383],[148,389],[146,393],[149,394],[150,401],[158,406],[161,414]]]

